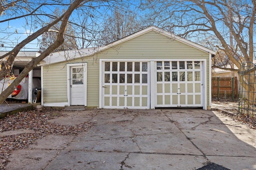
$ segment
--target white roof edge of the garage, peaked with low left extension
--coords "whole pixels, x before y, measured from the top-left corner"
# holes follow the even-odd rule
[[[173,38],[174,40],[178,41],[178,42],[181,42],[181,43],[184,43],[186,45],[189,45],[191,47],[194,47],[200,51],[203,51],[205,53],[211,53],[211,54],[215,54],[215,51],[212,51],[211,49],[208,49],[202,45],[199,45],[197,43],[194,43],[194,42],[191,42],[189,40],[186,40],[184,38],[181,38],[173,33],[170,33],[170,32],[167,32],[167,31],[164,31],[158,27],[155,27],[155,26],[150,26],[148,28],[145,28],[143,30],[140,30],[134,34],[131,34],[130,36],[126,36],[120,40],[117,40],[115,42],[112,42],[108,45],[104,45],[102,47],[91,47],[91,48],[84,48],[84,49],[74,49],[74,50],[68,50],[68,51],[58,51],[58,52],[54,52],[54,53],[51,53],[50,55],[48,55],[44,61],[42,61],[40,65],[49,65],[49,64],[53,64],[53,63],[59,63],[59,62],[62,62],[62,61],[66,61],[66,60],[69,60],[69,59],[76,59],[78,57],[87,57],[87,56],[90,56],[90,55],[94,55],[100,51],[103,51],[103,50],[106,50],[108,48],[111,48],[111,47],[114,47],[115,45],[118,45],[120,43],[123,43],[123,42],[126,42],[128,40],[132,40],[133,38],[136,38],[138,36],[141,36],[143,34],[146,34],[148,32],[151,32],[151,31],[154,31],[154,32],[157,32],[159,34],[162,34],[168,38]],[[66,57],[68,56],[68,58]]]

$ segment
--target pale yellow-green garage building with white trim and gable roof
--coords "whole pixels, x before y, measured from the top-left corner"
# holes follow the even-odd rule
[[[213,54],[154,26],[96,49],[52,53],[40,64],[42,105],[210,109]]]

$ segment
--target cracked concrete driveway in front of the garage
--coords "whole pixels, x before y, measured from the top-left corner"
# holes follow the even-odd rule
[[[54,136],[15,151],[7,169],[195,170],[209,162],[232,170],[256,169],[256,130],[216,111],[200,109],[64,112],[52,122],[84,121],[80,136]]]

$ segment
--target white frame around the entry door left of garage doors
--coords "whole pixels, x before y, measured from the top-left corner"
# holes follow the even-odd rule
[[[68,106],[70,106],[70,67],[82,66],[84,68],[84,106],[87,106],[87,62],[86,63],[68,63],[67,64],[67,92],[68,92]]]

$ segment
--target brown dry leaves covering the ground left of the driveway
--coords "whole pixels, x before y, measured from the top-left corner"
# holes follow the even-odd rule
[[[2,136],[0,138],[0,169],[7,164],[8,157],[13,150],[26,148],[26,146],[35,143],[38,138],[49,134],[78,135],[92,127],[90,122],[73,126],[48,122],[50,119],[63,116],[61,113],[61,109],[45,109],[41,112],[32,110],[0,119],[0,133],[18,129],[34,130],[32,133]]]

